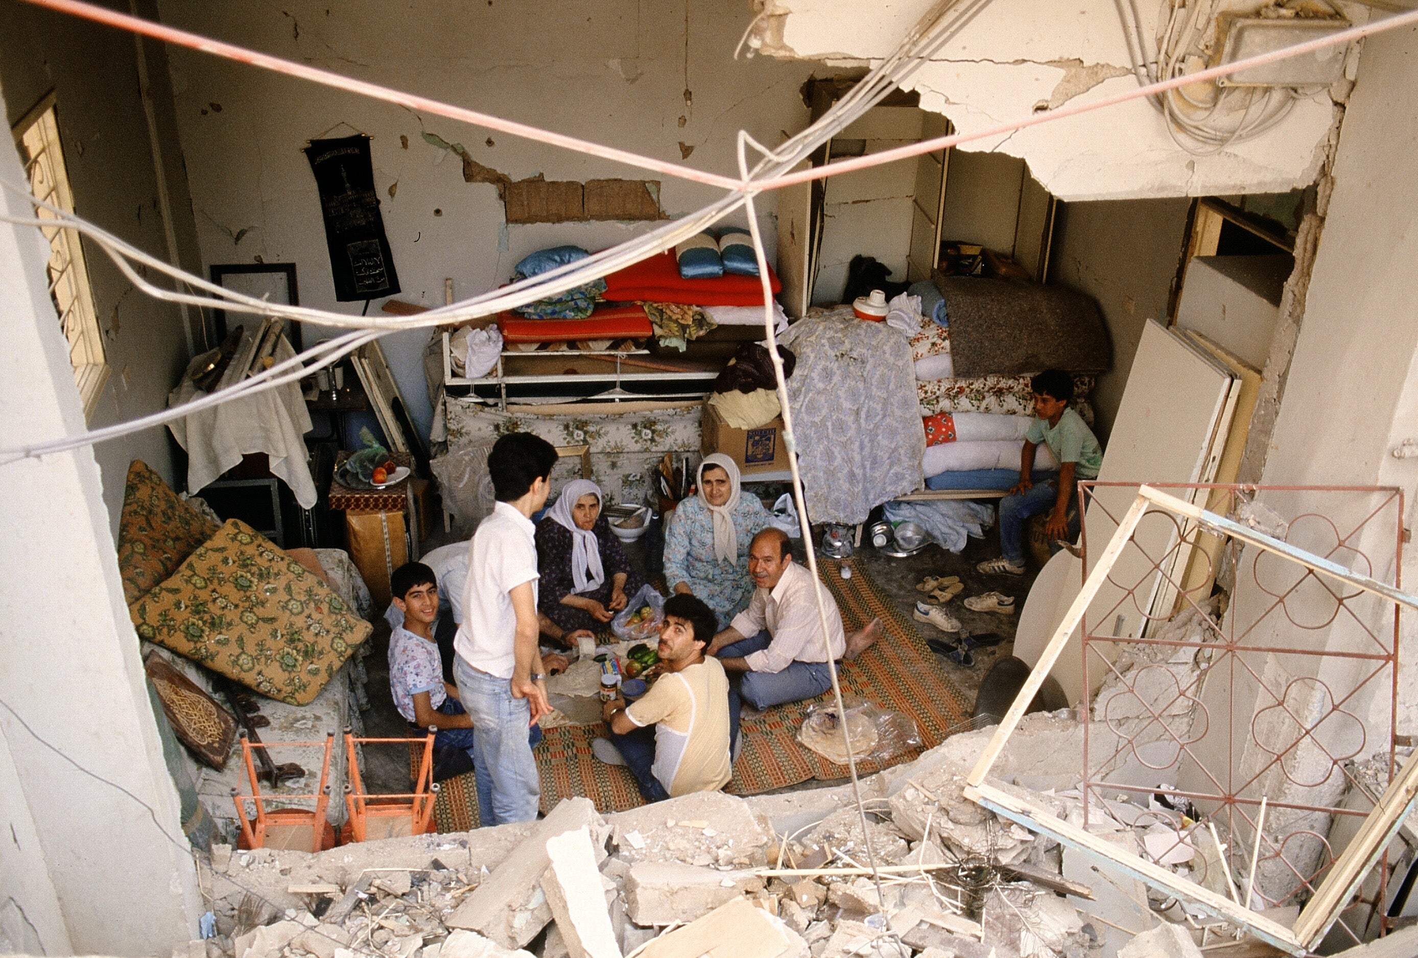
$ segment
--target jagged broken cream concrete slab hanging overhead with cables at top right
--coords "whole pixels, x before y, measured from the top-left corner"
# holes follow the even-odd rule
[[[866,4],[861,0],[774,0],[759,26],[760,50],[828,64],[876,62],[932,9],[930,0]],[[1235,0],[1222,9],[1268,6]],[[1038,111],[1102,99],[1137,88],[1119,6],[1081,0],[997,0],[960,4],[964,26],[908,81],[920,106],[944,113],[968,133]],[[1356,23],[1367,11],[1341,7]],[[1159,4],[1134,4],[1151,40]],[[1297,99],[1271,130],[1208,156],[1178,147],[1159,113],[1137,99],[1012,135],[976,140],[968,150],[1020,156],[1044,187],[1064,200],[1283,193],[1312,183],[1334,120],[1329,94]]]

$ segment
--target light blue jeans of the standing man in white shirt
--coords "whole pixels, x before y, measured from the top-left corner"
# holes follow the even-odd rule
[[[536,819],[542,781],[527,741],[532,707],[512,696],[506,679],[478,672],[462,656],[454,659],[462,707],[472,716],[472,761],[478,779],[482,825]]]

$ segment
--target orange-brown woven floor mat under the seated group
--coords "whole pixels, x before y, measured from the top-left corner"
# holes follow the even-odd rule
[[[834,560],[818,558],[818,568],[848,632],[873,618],[881,618],[883,625],[876,645],[856,660],[842,663],[842,694],[861,696],[915,718],[922,750],[940,744],[951,730],[963,727],[970,717],[970,703],[937,663],[909,615],[881,591],[865,570],[854,567],[852,578],[844,580],[841,565]],[[831,762],[797,741],[798,726],[808,709],[827,697],[744,717],[740,724],[743,748],[726,791],[757,795],[808,778],[844,778],[847,765]],[[542,774],[543,812],[573,795],[590,798],[603,813],[644,804],[635,779],[624,767],[605,765],[591,754],[591,740],[600,734],[604,734],[601,726],[569,726],[546,733],[535,751]],[[917,754],[920,750],[893,755],[885,762],[859,762],[856,770],[864,775],[872,774]],[[434,818],[440,832],[478,826],[478,789],[471,774],[442,782]]]

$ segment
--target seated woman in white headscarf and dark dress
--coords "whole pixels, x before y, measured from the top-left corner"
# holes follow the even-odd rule
[[[539,611],[563,633],[604,631],[641,587],[601,513],[601,488],[588,479],[562,486],[537,523],[536,554]]]

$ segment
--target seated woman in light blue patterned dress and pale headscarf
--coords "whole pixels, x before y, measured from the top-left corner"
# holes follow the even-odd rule
[[[665,533],[665,581],[703,599],[725,629],[753,598],[749,541],[769,512],[757,496],[740,495],[739,466],[720,452],[705,456],[695,488]]]

